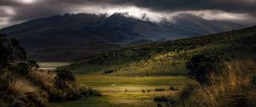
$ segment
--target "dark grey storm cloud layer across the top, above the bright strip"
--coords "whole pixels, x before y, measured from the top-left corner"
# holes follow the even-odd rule
[[[0,18],[9,17],[9,21],[20,21],[73,12],[81,7],[121,8],[125,6],[165,13],[221,10],[256,16],[256,0],[0,0],[0,9],[8,7],[15,10],[15,14],[10,14],[6,12],[8,9],[1,9]]]

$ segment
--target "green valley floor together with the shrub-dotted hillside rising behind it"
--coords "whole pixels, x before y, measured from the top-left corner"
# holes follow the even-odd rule
[[[102,97],[51,105],[169,106],[166,101],[155,102],[154,99],[161,96],[172,98],[189,84],[198,84],[188,76],[187,62],[193,54],[210,51],[218,52],[222,59],[251,59],[254,52],[248,46],[252,46],[255,33],[255,27],[252,27],[206,37],[155,42],[73,62],[61,68],[72,70],[79,84],[99,90]],[[170,87],[175,87],[175,90],[170,90]],[[164,91],[155,91],[159,88]],[[224,104],[231,100],[227,99]]]

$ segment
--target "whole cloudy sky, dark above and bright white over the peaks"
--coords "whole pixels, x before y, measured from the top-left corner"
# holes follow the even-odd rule
[[[151,21],[186,13],[256,25],[256,0],[0,0],[0,28],[55,14],[127,13]]]

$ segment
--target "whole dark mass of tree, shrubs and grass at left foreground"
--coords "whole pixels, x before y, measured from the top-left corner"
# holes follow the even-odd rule
[[[47,107],[87,96],[101,96],[96,90],[77,84],[69,70],[38,70],[35,61],[15,39],[0,34],[0,106]]]

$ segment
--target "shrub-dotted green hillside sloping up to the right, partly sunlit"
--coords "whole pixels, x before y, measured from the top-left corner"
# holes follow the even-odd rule
[[[256,27],[205,37],[154,42],[85,58],[65,66],[75,73],[115,75],[183,75],[196,53],[216,53],[224,59],[246,59],[255,53]]]

